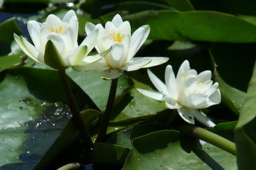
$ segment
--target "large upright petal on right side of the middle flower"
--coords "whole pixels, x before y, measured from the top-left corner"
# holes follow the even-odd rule
[[[141,26],[132,34],[132,39],[130,42],[129,52],[127,60],[131,60],[132,57],[136,54],[142,44],[145,42],[146,38],[149,36],[150,28],[148,25]]]

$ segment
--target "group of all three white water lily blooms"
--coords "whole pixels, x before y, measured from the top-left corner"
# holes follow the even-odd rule
[[[149,35],[149,26],[142,26],[131,34],[129,21],[122,21],[117,14],[112,21],[94,25],[86,23],[87,37],[78,45],[78,18],[75,11],[68,11],[63,20],[50,14],[45,23],[28,21],[28,33],[33,45],[22,36],[14,34],[21,50],[36,62],[47,64],[53,69],[73,67],[78,71],[102,72],[102,79],[117,79],[124,71],[163,64],[169,57],[134,57]],[[99,54],[88,56],[95,47]],[[148,70],[156,89],[160,93],[137,89],[140,93],[166,106],[177,109],[181,118],[194,123],[194,117],[207,126],[215,124],[198,109],[220,103],[218,83],[210,80],[211,72],[197,74],[186,60],[175,77],[171,65],[166,67],[164,84]]]

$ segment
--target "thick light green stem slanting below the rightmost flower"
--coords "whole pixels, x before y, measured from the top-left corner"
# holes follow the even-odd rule
[[[198,139],[215,145],[216,147],[219,147],[230,154],[236,155],[235,144],[229,140],[226,140],[224,137],[216,135],[213,132],[194,125],[180,125],[178,129],[186,135],[197,137]]]

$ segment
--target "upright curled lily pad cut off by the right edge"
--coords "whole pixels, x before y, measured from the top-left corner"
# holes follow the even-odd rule
[[[238,125],[235,128],[235,143],[238,152],[239,169],[252,169],[256,166],[256,67],[250,81],[245,103],[242,106]]]

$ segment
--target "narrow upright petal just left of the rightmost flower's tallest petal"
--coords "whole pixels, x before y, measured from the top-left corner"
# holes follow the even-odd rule
[[[168,65],[166,67],[164,79],[166,81],[167,90],[169,91],[169,96],[171,96],[174,99],[177,99],[178,93],[176,86],[176,77],[174,75],[174,70],[172,69],[171,65]]]

